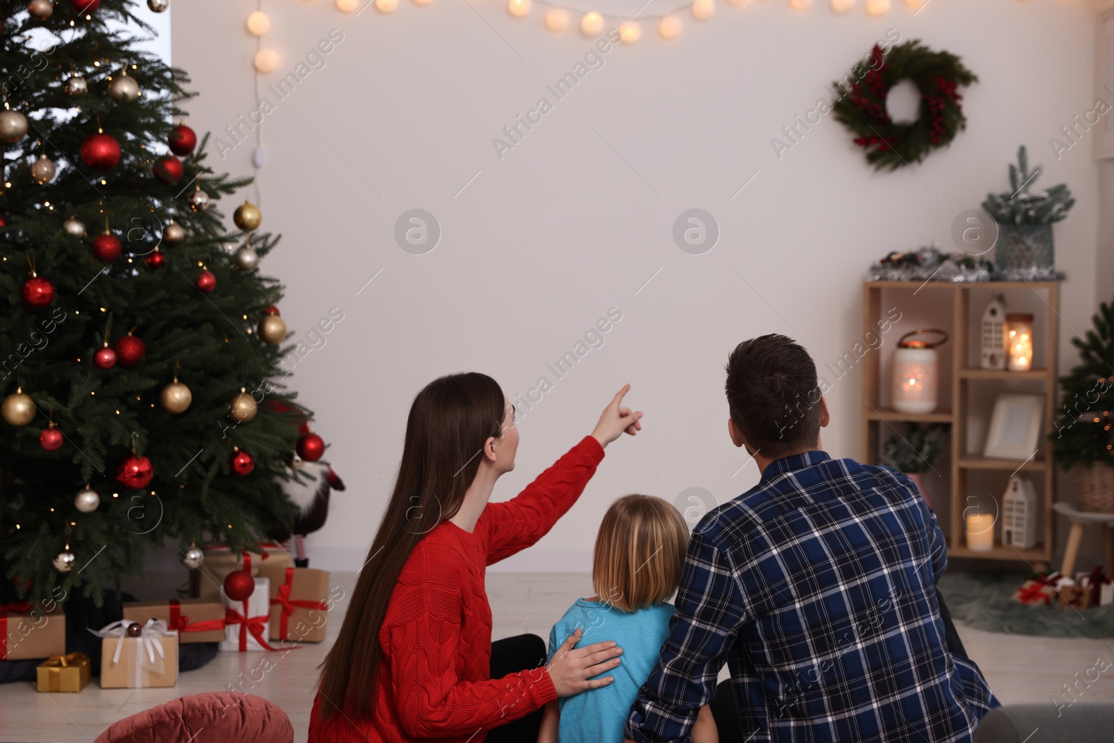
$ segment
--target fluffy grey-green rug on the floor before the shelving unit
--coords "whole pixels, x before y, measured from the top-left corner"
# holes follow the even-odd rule
[[[1114,637],[1114,604],[1078,612],[1026,606],[1012,598],[1023,580],[1020,573],[945,573],[939,589],[951,618],[976,629],[1046,637]]]

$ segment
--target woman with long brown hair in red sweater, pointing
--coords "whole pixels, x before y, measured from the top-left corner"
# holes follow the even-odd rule
[[[618,665],[622,648],[575,648],[579,630],[548,665],[539,637],[492,645],[483,579],[571,508],[604,447],[642,428],[642,413],[622,404],[629,389],[590,436],[499,504],[488,499],[515,467],[518,429],[498,383],[451,374],[418,393],[394,490],[322,664],[310,743],[532,742],[546,704],[613,681],[592,677]]]

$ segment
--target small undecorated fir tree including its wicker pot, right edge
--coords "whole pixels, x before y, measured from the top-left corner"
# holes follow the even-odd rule
[[[1049,434],[1059,466],[1074,471],[1075,507],[1114,512],[1114,303],[1103,302],[1094,329],[1073,338],[1081,363],[1059,378],[1062,412]]]

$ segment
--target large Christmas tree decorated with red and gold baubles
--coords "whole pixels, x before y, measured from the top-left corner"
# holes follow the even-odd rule
[[[188,77],[120,30],[166,0],[0,2],[0,567],[99,604],[167,539],[290,521],[306,414],[255,270],[277,238],[246,202],[225,228],[211,202],[251,179],[205,165]]]

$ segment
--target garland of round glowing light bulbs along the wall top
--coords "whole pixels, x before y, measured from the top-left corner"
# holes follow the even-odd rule
[[[333,0],[336,10],[342,13],[351,13],[360,10],[363,0]],[[394,12],[399,7],[399,0],[371,0],[375,10],[387,14]],[[432,0],[413,0],[416,6],[428,6]],[[729,4],[741,6],[753,0],[725,0]],[[765,1],[765,0],[760,0]],[[812,6],[812,0],[786,0],[789,7],[798,12],[803,12]],[[304,2],[316,2],[316,0],[304,0]],[[832,12],[847,14],[854,9],[858,0],[829,0]],[[928,0],[902,0],[910,10],[919,10]],[[618,21],[620,43],[634,43],[642,38],[643,23],[657,25],[657,36],[663,39],[674,39],[681,33],[683,28],[682,17],[687,12],[695,20],[706,21],[715,14],[715,0],[692,0],[668,12],[651,16],[625,16],[615,13],[604,13],[596,10],[583,10],[569,6],[561,6],[548,0],[507,0],[507,12],[514,18],[526,18],[530,14],[534,4],[548,8],[543,17],[543,25],[553,33],[566,31],[573,17],[579,17],[577,27],[586,36],[597,36],[604,30],[606,20]],[[878,17],[889,12],[891,0],[863,0],[863,10],[868,16]],[[255,10],[247,17],[247,30],[252,36],[263,37],[271,28],[271,19],[262,10]],[[278,55],[274,49],[260,48],[252,60],[256,71],[264,75],[271,72],[278,65]]]

